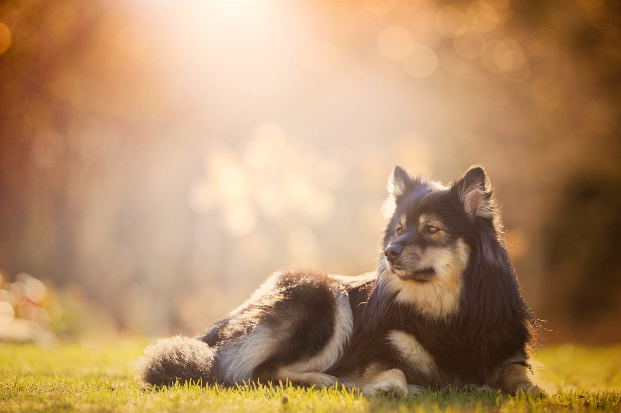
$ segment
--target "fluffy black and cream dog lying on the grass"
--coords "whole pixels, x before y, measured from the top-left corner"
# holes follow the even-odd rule
[[[375,272],[274,273],[197,337],[148,347],[137,362],[142,380],[339,383],[395,397],[424,386],[542,395],[529,356],[537,322],[484,169],[445,187],[396,166],[382,210]]]

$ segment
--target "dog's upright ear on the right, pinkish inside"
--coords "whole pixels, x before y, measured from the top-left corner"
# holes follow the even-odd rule
[[[466,214],[474,219],[477,216],[494,218],[496,207],[492,199],[489,178],[480,166],[472,166],[460,180],[456,180],[451,191],[459,198]]]

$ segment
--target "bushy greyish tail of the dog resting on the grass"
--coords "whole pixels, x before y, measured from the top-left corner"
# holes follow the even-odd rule
[[[214,383],[215,354],[205,342],[177,335],[160,339],[145,349],[135,368],[142,380],[158,386],[175,381],[194,381],[204,386]]]

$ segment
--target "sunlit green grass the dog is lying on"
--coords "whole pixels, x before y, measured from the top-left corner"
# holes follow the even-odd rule
[[[0,411],[84,412],[438,412],[619,411],[621,346],[545,347],[537,358],[545,399],[479,391],[424,391],[419,397],[368,398],[347,389],[299,389],[281,384],[233,389],[179,385],[143,388],[132,362],[147,341],[114,344],[0,344]]]

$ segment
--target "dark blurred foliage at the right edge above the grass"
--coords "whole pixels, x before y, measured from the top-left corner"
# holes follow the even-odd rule
[[[565,299],[546,303],[573,320],[574,331],[621,340],[612,329],[621,313],[621,177],[577,175],[560,197],[547,231],[549,272],[544,288]]]

